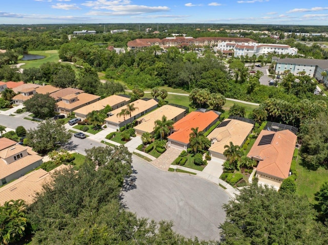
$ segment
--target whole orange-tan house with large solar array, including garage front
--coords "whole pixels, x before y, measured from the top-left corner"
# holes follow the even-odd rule
[[[280,188],[290,175],[297,136],[288,129],[262,130],[247,157],[258,162],[258,183]]]

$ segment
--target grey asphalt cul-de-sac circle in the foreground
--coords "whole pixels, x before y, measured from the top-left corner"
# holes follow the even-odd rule
[[[222,188],[195,175],[165,172],[133,156],[132,187],[122,201],[138,217],[173,220],[173,230],[186,237],[219,240],[222,205],[229,196]]]

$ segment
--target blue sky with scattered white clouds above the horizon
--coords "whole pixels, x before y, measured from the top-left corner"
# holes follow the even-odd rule
[[[0,24],[64,23],[328,25],[328,1],[7,0],[0,7]]]

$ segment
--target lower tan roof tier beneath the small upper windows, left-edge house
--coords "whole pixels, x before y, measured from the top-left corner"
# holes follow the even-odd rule
[[[39,155],[27,155],[11,164],[7,164],[3,159],[0,159],[0,180],[40,160],[42,160],[42,157]]]

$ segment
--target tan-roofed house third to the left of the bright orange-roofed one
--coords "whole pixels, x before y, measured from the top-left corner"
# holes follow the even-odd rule
[[[128,104],[129,102],[130,98],[127,98],[125,96],[112,95],[102,100],[98,100],[92,104],[78,108],[74,110],[74,113],[76,117],[85,119],[87,118],[89,113],[93,112],[93,110],[99,112],[99,110],[104,109],[107,105],[110,105],[114,110]]]

